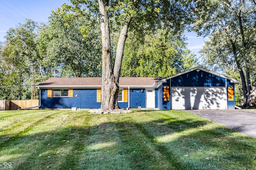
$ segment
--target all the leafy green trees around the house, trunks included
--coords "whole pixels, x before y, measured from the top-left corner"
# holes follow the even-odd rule
[[[102,109],[118,109],[119,76],[171,76],[198,64],[184,30],[210,41],[200,62],[242,82],[256,98],[254,0],[70,0],[48,23],[27,20],[0,45],[1,99],[30,98],[51,76],[102,76]],[[221,37],[221,38],[220,38]]]

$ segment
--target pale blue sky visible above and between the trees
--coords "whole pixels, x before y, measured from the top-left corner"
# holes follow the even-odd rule
[[[47,22],[52,10],[69,3],[68,0],[0,0],[0,41],[4,42],[6,31],[25,23],[26,19]],[[188,48],[198,57],[198,51],[208,38],[197,37],[196,33],[186,33]]]

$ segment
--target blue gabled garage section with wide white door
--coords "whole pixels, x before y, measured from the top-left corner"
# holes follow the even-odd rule
[[[170,86],[170,109],[235,109],[235,84],[240,81],[195,67],[168,77],[163,83]]]

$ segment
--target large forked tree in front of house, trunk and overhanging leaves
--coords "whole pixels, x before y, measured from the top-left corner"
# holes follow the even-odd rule
[[[190,23],[192,4],[185,0],[71,0],[75,10],[88,11],[88,16],[100,16],[102,40],[102,88],[101,109],[118,109],[119,76],[128,29],[138,35],[157,28],[174,28],[182,31]],[[84,7],[84,8],[83,8]],[[80,11],[81,11],[80,10]],[[112,24],[120,25],[114,63],[110,33]],[[182,26],[181,26],[182,25]]]

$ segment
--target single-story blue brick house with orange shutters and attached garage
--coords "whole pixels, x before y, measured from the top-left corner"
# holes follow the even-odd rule
[[[120,77],[120,108],[234,109],[238,80],[196,67],[167,78]],[[39,108],[98,109],[101,77],[50,78],[37,85]]]

